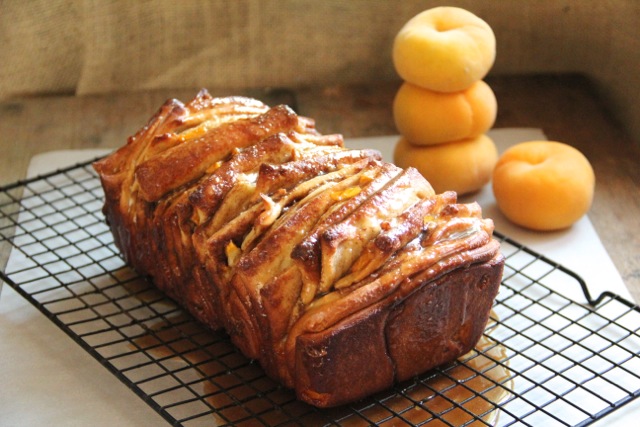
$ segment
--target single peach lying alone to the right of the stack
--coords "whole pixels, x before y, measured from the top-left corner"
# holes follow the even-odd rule
[[[571,226],[591,207],[595,175],[587,158],[557,141],[516,144],[493,172],[498,208],[522,227],[548,231]]]

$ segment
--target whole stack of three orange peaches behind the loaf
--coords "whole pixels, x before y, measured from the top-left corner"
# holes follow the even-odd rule
[[[395,38],[393,63],[404,82],[393,103],[401,134],[394,162],[418,169],[437,192],[471,193],[491,179],[498,151],[486,132],[497,102],[482,79],[495,53],[491,27],[456,7],[416,15]]]

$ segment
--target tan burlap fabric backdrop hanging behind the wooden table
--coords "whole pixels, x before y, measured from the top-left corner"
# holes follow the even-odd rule
[[[587,74],[640,136],[636,0],[0,0],[0,99],[395,79],[395,33],[441,4],[493,27],[492,73]]]

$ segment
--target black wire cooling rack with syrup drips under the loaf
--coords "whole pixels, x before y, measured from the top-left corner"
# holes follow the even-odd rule
[[[459,361],[364,401],[303,404],[129,269],[90,162],[0,188],[0,278],[170,424],[585,426],[640,394],[640,307],[498,235],[492,321]],[[590,304],[553,291],[581,286]]]

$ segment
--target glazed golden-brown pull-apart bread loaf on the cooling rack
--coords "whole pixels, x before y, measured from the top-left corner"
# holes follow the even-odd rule
[[[493,223],[286,106],[200,92],[95,163],[126,261],[298,398],[455,360],[502,276]]]

